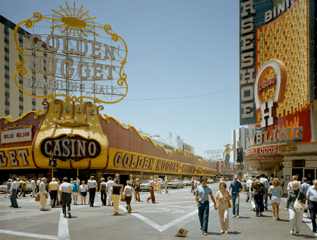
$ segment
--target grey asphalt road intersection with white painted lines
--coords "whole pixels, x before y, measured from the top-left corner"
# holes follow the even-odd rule
[[[215,195],[218,183],[209,184]],[[10,200],[0,194],[0,239],[177,239],[174,236],[180,228],[189,231],[190,239],[287,239],[315,238],[311,232],[310,220],[304,217],[301,236],[290,235],[288,212],[285,198],[281,203],[281,221],[273,221],[269,203],[263,217],[255,217],[251,203],[245,202],[245,194],[240,196],[240,219],[232,218],[230,209],[230,229],[221,234],[218,211],[211,202],[208,236],[201,233],[197,215],[195,197],[190,186],[169,189],[168,194],[156,194],[156,203],[147,203],[150,195],[141,192],[141,202],[132,199],[132,213],[125,210],[126,204],[120,202],[117,216],[112,206],[102,206],[100,195],[96,195],[95,207],[72,205],[72,218],[63,218],[61,208],[51,208],[48,199],[48,211],[40,211],[39,203],[30,195],[19,198],[20,208],[10,208]],[[151,201],[150,201],[151,202]],[[79,201],[80,203],[80,201]],[[307,224],[305,223],[307,222]]]

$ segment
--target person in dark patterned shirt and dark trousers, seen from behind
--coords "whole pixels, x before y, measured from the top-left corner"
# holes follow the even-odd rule
[[[261,175],[257,175],[254,182],[251,184],[251,197],[254,198],[255,207],[257,209],[256,217],[262,215],[264,211],[263,198],[265,199],[265,185],[260,181]]]

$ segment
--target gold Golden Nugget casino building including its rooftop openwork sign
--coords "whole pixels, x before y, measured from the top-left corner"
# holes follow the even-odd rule
[[[15,63],[14,81],[20,92],[42,99],[44,111],[0,117],[0,181],[12,175],[49,180],[52,175],[81,180],[95,175],[99,181],[111,176],[123,184],[149,176],[215,177],[216,162],[178,148],[167,151],[134,127],[100,113],[104,104],[127,94],[127,45],[82,7],[60,6],[45,16],[36,12],[15,27],[21,60]],[[38,32],[38,23],[47,23],[50,31]],[[34,28],[34,34],[24,31],[25,49],[18,44],[21,28]],[[49,165],[52,157],[55,168]]]

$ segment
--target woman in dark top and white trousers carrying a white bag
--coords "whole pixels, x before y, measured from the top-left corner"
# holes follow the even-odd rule
[[[299,236],[302,228],[303,211],[297,212],[294,208],[294,203],[298,199],[299,202],[304,203],[307,200],[306,195],[299,189],[298,181],[292,182],[292,189],[289,190],[289,194],[286,200],[285,210],[289,212],[290,221],[290,234],[294,233],[296,228],[296,235]]]

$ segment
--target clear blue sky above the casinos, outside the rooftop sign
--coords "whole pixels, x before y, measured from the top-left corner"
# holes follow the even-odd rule
[[[17,24],[34,12],[52,14],[58,5],[65,7],[65,1],[3,1],[0,14]],[[127,44],[128,94],[105,105],[102,114],[163,139],[169,132],[179,135],[202,157],[208,157],[204,150],[231,143],[231,130],[240,127],[238,1],[76,1],[79,5]]]

